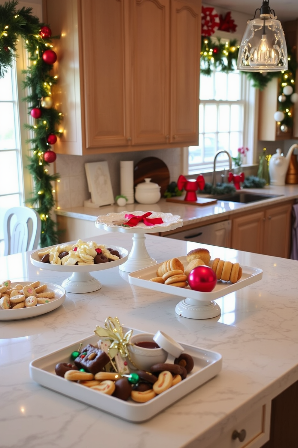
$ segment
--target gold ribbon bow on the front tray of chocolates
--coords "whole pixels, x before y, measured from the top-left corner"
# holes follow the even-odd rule
[[[111,345],[108,349],[109,357],[111,359],[113,359],[117,353],[120,353],[122,358],[129,358],[127,345],[130,343],[132,330],[129,330],[123,335],[123,328],[120,325],[118,317],[115,317],[114,319],[108,317],[105,319],[105,328],[98,327],[97,325],[94,333],[101,339],[111,341]]]

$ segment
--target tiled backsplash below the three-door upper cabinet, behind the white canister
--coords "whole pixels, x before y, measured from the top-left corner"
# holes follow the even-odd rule
[[[168,166],[170,182],[177,181],[181,174],[180,148],[83,156],[57,154],[56,172],[60,175],[56,188],[57,206],[62,209],[81,207],[84,205],[84,200],[91,197],[88,191],[85,163],[107,160],[115,197],[120,194],[120,160],[133,160],[134,164],[137,164],[145,157],[162,159]]]

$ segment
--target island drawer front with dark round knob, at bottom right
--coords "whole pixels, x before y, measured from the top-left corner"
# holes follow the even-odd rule
[[[270,401],[248,413],[245,417],[225,430],[218,440],[208,448],[259,448],[269,440],[270,435]],[[233,439],[233,433],[245,431],[242,441]],[[237,434],[235,434],[237,436]],[[240,437],[241,438],[241,437]]]

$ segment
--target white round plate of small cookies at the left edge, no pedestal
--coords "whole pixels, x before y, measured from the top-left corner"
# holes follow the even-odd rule
[[[33,283],[32,281],[19,281],[17,283],[12,283],[11,287],[17,284],[27,285]],[[18,319],[28,319],[29,317],[40,316],[41,314],[49,313],[55,310],[60,305],[63,304],[65,300],[65,289],[54,283],[45,282],[48,289],[55,292],[55,298],[50,299],[49,303],[38,303],[36,306],[28,306],[27,308],[17,308],[16,310],[0,310],[0,320],[18,320]]]

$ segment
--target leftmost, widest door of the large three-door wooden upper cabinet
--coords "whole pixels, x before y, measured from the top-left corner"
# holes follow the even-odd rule
[[[130,142],[128,3],[82,1],[86,146]]]

